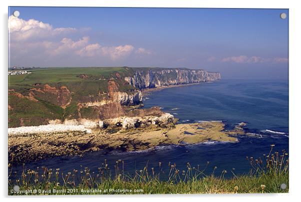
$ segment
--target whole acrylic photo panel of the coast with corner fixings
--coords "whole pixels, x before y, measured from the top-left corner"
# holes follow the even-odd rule
[[[8,7],[8,195],[288,192],[288,14]]]

